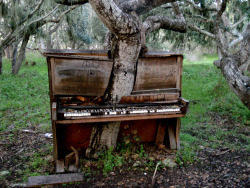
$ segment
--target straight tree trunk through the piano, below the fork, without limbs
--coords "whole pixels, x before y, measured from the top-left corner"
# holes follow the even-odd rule
[[[140,35],[117,39],[113,44],[114,66],[109,83],[108,103],[116,104],[124,95],[130,95],[134,85],[136,62],[141,49]],[[96,123],[90,144],[86,151],[89,158],[97,158],[98,153],[116,147],[120,122]]]

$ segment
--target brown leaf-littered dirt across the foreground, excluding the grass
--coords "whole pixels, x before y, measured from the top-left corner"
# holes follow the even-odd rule
[[[1,133],[0,136],[0,172],[7,173],[1,175],[0,187],[24,186],[23,176],[27,173],[24,171],[27,171],[27,164],[37,153],[42,153],[49,164],[39,168],[39,173],[54,174],[49,149],[52,139],[46,138],[44,133],[18,131]],[[155,161],[174,156],[167,150],[159,151],[151,145],[144,145],[144,149]],[[157,169],[153,187],[249,187],[250,161],[246,151],[202,148],[197,151],[197,156],[198,160],[193,164]],[[90,173],[81,184],[55,187],[151,187],[155,163],[152,169],[143,167],[131,170],[137,160],[124,164],[107,176]]]

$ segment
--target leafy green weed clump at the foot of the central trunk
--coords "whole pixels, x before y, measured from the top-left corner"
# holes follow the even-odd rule
[[[103,165],[103,174],[108,175],[115,167],[122,166],[124,157],[114,152],[113,147],[100,155],[100,162]]]

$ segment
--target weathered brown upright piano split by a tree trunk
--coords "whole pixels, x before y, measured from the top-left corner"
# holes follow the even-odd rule
[[[103,105],[113,66],[108,51],[47,50],[54,160],[89,145],[93,123],[122,121],[119,139],[180,148],[183,55],[148,52],[140,57],[134,88],[117,105]]]

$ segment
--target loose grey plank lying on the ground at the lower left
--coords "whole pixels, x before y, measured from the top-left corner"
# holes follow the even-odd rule
[[[45,185],[56,185],[63,183],[75,183],[83,181],[82,173],[60,174],[49,176],[32,176],[28,178],[26,187],[40,187]]]

